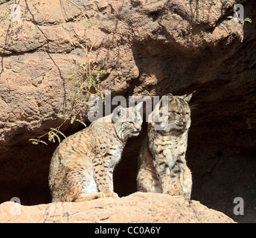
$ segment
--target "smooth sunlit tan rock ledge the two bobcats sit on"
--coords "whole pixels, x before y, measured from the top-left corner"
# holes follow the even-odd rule
[[[15,208],[16,205],[13,202],[0,205],[0,222],[234,223],[223,213],[197,201],[188,203],[182,196],[157,193],[138,192],[121,199],[89,202],[18,205]]]

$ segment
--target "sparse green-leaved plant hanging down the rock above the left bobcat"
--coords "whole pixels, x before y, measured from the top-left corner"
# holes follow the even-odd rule
[[[93,36],[92,44],[90,47],[87,43],[88,39],[86,38],[84,48],[86,52],[86,57],[85,61],[79,65],[79,71],[75,71],[74,74],[71,74],[71,76],[69,76],[67,79],[68,82],[71,83],[71,89],[68,91],[68,100],[70,100],[73,104],[71,112],[69,114],[58,113],[57,118],[63,119],[63,123],[61,123],[60,126],[57,126],[56,128],[51,128],[49,132],[46,132],[45,134],[40,135],[37,138],[29,139],[29,141],[31,141],[32,144],[37,145],[39,143],[42,143],[47,145],[47,143],[42,140],[42,138],[44,138],[47,135],[48,141],[54,143],[58,141],[60,143],[61,137],[66,138],[63,132],[60,132],[60,128],[68,120],[70,120],[71,124],[73,124],[74,122],[79,122],[86,127],[86,123],[84,123],[83,120],[81,120],[80,118],[77,118],[76,109],[78,106],[82,106],[83,108],[89,108],[93,106],[88,102],[89,97],[91,97],[92,94],[96,94],[97,97],[100,97],[103,100],[103,102],[105,102],[104,94],[100,89],[100,79],[108,74],[111,74],[112,72],[98,69],[97,64],[91,60],[91,52],[92,48],[95,45],[95,36],[96,30],[98,28],[98,21],[86,18],[85,22],[89,25],[90,28],[95,29],[95,34]]]

